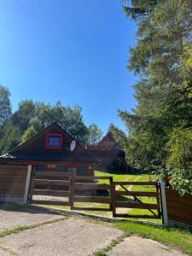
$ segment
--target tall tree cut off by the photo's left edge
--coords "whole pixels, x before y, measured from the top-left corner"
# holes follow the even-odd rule
[[[6,119],[9,119],[11,114],[9,89],[0,85],[0,126],[3,125]]]

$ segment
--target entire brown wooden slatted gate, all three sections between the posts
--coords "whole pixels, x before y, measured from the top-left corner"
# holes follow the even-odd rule
[[[113,177],[33,172],[29,202],[68,206],[72,210],[113,212],[113,217],[119,218],[161,217],[158,183],[113,182]],[[129,214],[130,209],[137,209],[137,214]],[[138,210],[147,210],[148,214],[140,214]]]

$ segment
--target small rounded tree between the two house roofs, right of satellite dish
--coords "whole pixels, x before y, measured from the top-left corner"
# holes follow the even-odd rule
[[[96,124],[88,126],[87,145],[96,145],[102,139],[102,130]]]

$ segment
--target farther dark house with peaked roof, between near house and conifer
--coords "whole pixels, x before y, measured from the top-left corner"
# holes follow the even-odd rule
[[[100,143],[96,146],[89,146],[88,149],[101,160],[98,169],[128,169],[125,163],[125,152],[116,143],[111,131],[108,131]]]

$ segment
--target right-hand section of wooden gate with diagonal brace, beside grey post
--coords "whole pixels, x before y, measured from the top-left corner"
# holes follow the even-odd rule
[[[126,188],[134,187],[135,191]],[[119,189],[117,189],[119,186]],[[139,189],[137,189],[139,187]],[[142,191],[143,188],[147,191]],[[149,191],[148,191],[149,190]],[[145,200],[140,198],[145,198]],[[148,203],[148,198],[153,203]],[[123,199],[123,200],[122,200]],[[146,200],[147,199],[147,200]],[[117,213],[117,208],[148,210],[150,214]],[[139,211],[137,211],[139,212]],[[160,218],[160,191],[154,182],[113,182],[113,217],[120,218]]]

